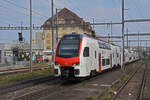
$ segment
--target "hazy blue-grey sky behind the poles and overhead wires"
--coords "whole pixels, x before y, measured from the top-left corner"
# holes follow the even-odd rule
[[[30,0],[0,0],[0,26],[29,26],[29,1]],[[55,8],[68,8],[82,17],[85,21],[92,22],[121,22],[122,0],[54,0]],[[32,0],[33,24],[41,26],[51,16],[50,0]],[[150,0],[125,0],[125,19],[150,18]],[[128,23],[125,29],[129,33],[150,32],[150,24]],[[107,35],[110,26],[96,26],[96,33]],[[0,31],[0,43],[12,43],[18,38],[18,31]],[[33,31],[35,34],[37,31]],[[29,31],[24,31],[24,37],[29,39]],[[113,25],[113,35],[121,35],[121,26]],[[130,39],[137,39],[132,37]],[[149,39],[141,37],[140,39]],[[132,43],[136,45],[135,43]],[[142,45],[144,45],[143,43]]]

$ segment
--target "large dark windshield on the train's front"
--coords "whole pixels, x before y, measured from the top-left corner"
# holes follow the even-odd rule
[[[65,35],[57,48],[57,57],[71,58],[79,56],[80,35]]]

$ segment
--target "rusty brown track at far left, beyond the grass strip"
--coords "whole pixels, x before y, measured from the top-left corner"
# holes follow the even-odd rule
[[[41,66],[41,67],[33,67],[33,71],[39,71],[42,69],[48,69],[48,66]],[[4,75],[12,75],[18,73],[29,72],[29,68],[17,68],[17,69],[8,69],[8,70],[0,70],[0,76]]]

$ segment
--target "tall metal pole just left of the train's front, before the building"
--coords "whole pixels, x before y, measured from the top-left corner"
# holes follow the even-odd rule
[[[51,0],[51,12],[52,12],[52,66],[54,67],[54,1]]]

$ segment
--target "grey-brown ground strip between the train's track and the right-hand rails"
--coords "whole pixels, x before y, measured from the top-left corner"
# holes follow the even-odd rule
[[[135,66],[135,63],[130,64],[127,67],[132,67],[133,65]],[[130,69],[131,68],[127,71],[130,72]],[[120,69],[114,69],[112,71],[102,73],[99,76],[88,80],[88,82],[83,82],[68,90],[49,95],[42,100],[99,99],[113,83],[117,82],[121,78],[122,75],[123,74]]]

